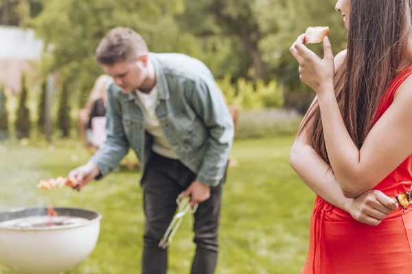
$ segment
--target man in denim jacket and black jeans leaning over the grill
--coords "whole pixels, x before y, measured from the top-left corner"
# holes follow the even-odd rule
[[[196,256],[192,273],[214,273],[222,184],[233,142],[233,121],[214,77],[201,61],[179,53],[150,53],[132,29],[111,29],[96,50],[113,78],[108,88],[107,138],[85,164],[71,171],[80,190],[115,169],[131,147],[143,168],[143,274],[167,271],[159,247],[176,211],[190,197]],[[119,183],[121,184],[121,182]]]

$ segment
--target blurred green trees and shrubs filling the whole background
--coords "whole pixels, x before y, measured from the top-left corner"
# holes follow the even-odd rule
[[[240,123],[255,122],[242,115],[261,115],[268,120],[265,127],[273,125],[271,132],[278,132],[273,128],[284,121],[293,132],[314,97],[299,81],[297,62],[289,53],[297,36],[308,26],[327,25],[335,54],[346,42],[342,19],[329,0],[3,0],[0,15],[1,25],[34,29],[45,42],[39,76],[26,77],[22,85],[27,90],[18,98],[0,89],[0,98],[3,94],[8,101],[0,110],[0,125],[10,125],[14,136],[21,136],[16,121],[36,123],[36,136],[44,132],[45,75],[51,72],[58,72],[54,129],[59,136],[71,136],[78,109],[103,73],[95,62],[95,48],[112,27],[132,27],[150,51],[186,53],[202,60],[228,103],[242,110]],[[323,54],[321,44],[310,49]]]

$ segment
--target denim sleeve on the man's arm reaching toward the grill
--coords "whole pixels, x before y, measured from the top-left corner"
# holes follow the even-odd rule
[[[122,110],[119,100],[113,95],[114,85],[108,87],[106,103],[106,134],[107,138],[91,157],[100,171],[96,179],[100,179],[119,164],[128,153],[129,145],[122,124]]]

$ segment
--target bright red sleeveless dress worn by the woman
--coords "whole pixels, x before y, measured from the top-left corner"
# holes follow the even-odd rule
[[[392,80],[376,112],[376,121],[389,108],[394,93],[409,75],[412,75],[412,66]],[[412,155],[374,189],[395,197],[411,190],[411,186]],[[347,212],[317,197],[310,218],[308,256],[301,273],[411,274],[411,211],[412,206],[407,210],[399,207],[374,227],[359,223]]]

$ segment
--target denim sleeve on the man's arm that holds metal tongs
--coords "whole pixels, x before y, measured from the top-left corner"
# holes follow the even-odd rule
[[[199,79],[188,97],[192,108],[209,130],[205,158],[196,180],[216,186],[227,168],[233,144],[233,121],[214,81]]]

